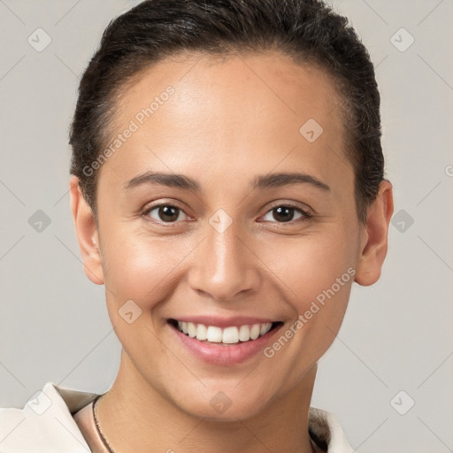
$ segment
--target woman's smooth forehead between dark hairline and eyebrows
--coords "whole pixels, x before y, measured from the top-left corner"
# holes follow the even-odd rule
[[[334,82],[274,51],[166,58],[127,84],[114,123],[112,140],[134,133],[101,173],[117,168],[125,180],[156,166],[245,176],[302,165],[321,180],[342,177],[339,165],[351,169]]]

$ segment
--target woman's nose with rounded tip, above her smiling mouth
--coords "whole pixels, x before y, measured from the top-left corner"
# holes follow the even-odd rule
[[[188,283],[212,299],[231,301],[240,294],[257,291],[259,259],[236,222],[225,231],[207,223],[204,240],[196,248],[194,261]]]

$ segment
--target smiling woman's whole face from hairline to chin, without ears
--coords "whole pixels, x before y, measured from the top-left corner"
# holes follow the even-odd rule
[[[272,52],[200,57],[121,97],[94,271],[123,371],[182,411],[246,418],[333,342],[366,238],[326,74]]]

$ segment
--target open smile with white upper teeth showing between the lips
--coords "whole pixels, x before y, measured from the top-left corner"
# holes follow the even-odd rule
[[[169,319],[169,324],[180,333],[196,338],[200,342],[217,343],[219,345],[233,345],[243,342],[253,342],[271,332],[281,321],[265,324],[244,324],[242,326],[206,326],[204,324]]]

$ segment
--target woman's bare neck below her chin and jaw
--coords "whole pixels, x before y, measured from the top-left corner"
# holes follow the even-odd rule
[[[296,388],[252,417],[210,421],[181,411],[142,379],[124,349],[117,378],[99,401],[97,418],[116,452],[312,453],[308,411],[316,365]]]

